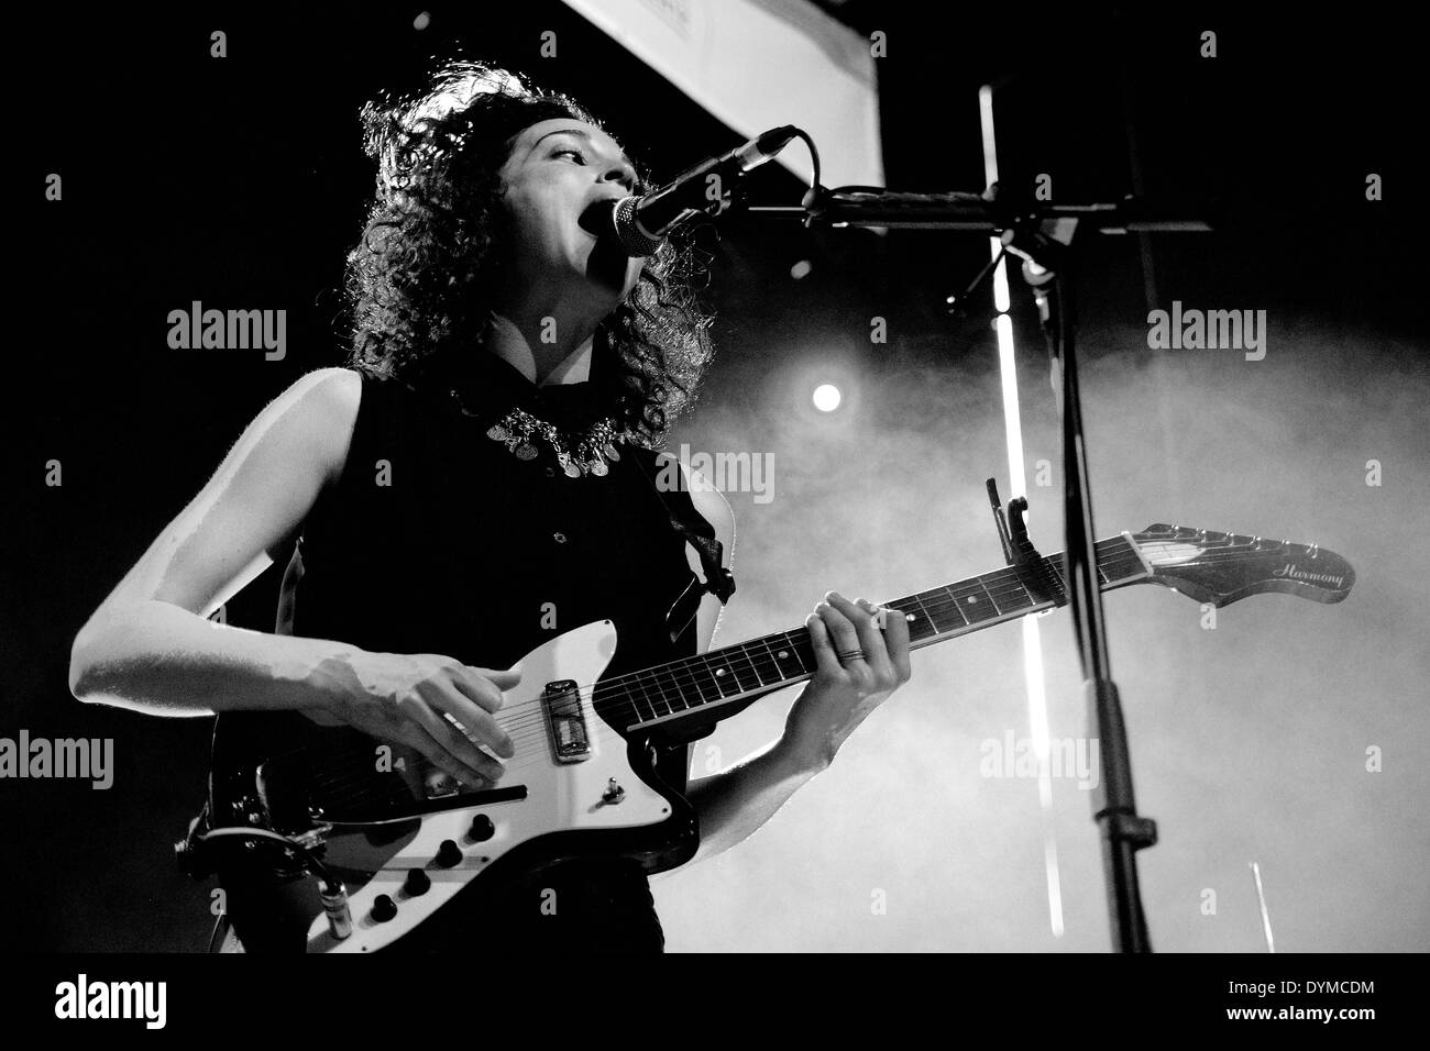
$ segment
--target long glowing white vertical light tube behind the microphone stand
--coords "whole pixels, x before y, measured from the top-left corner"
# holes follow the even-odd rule
[[[984,180],[998,182],[998,150],[992,124],[992,86],[978,89],[978,113],[982,123]],[[997,259],[1002,242],[990,239],[990,250]],[[1000,260],[992,272],[992,299],[998,310],[994,327],[998,335],[998,375],[1002,383],[1002,422],[1008,443],[1007,499],[1027,496],[1028,482],[1022,468],[1022,415],[1018,410],[1018,369],[1012,342],[1012,319],[1008,316],[1008,270]],[[1058,874],[1058,841],[1052,825],[1052,776],[1048,768],[1048,702],[1042,679],[1042,636],[1038,618],[1022,618],[1022,678],[1028,689],[1028,729],[1038,759],[1038,806],[1042,814],[1042,865],[1048,881],[1048,925],[1055,938],[1062,937],[1062,881]]]

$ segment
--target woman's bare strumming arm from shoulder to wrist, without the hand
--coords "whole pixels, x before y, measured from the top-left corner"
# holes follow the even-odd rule
[[[313,676],[352,648],[206,618],[272,563],[336,479],[359,392],[356,373],[315,372],[259,413],[74,638],[74,696],[153,715],[317,705]]]

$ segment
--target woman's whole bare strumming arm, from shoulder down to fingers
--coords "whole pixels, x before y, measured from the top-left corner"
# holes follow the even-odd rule
[[[360,399],[356,373],[326,369],[259,413],[74,638],[76,698],[154,715],[297,709],[416,748],[468,784],[500,776],[502,765],[476,745],[512,755],[488,712],[518,675],[206,619],[270,565],[339,478]]]

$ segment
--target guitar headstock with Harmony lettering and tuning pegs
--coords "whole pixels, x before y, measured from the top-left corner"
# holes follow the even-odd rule
[[[1350,562],[1314,543],[1161,523],[1130,536],[1158,583],[1213,606],[1271,591],[1340,602],[1356,583]]]

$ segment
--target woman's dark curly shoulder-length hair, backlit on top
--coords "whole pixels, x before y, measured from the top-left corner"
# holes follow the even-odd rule
[[[378,192],[347,255],[350,366],[422,386],[485,349],[511,245],[499,170],[512,139],[558,117],[601,127],[568,96],[466,60],[438,66],[422,94],[362,107]],[[641,174],[636,193],[644,187]],[[664,243],[596,329],[592,379],[603,376],[613,415],[649,448],[694,403],[711,359],[711,316],[695,287],[704,262],[688,242]]]

